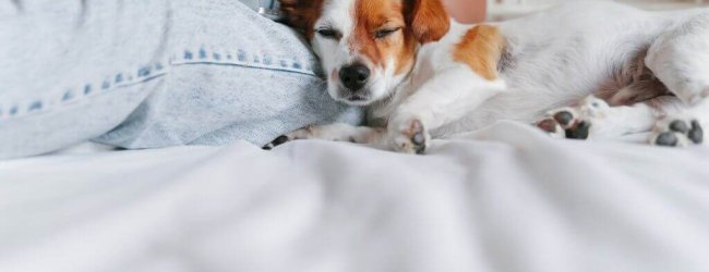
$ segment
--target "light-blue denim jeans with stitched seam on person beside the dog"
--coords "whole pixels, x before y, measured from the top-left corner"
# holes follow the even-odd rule
[[[0,158],[86,139],[263,145],[357,123],[291,29],[232,0],[0,2]]]

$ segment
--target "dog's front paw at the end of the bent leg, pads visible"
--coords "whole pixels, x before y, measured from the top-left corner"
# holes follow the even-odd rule
[[[394,128],[390,140],[392,149],[402,153],[421,154],[425,152],[431,136],[420,120],[413,119],[394,126]]]

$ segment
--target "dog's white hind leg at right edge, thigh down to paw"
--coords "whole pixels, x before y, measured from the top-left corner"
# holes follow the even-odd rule
[[[658,120],[650,143],[704,143],[702,126],[709,122],[709,14],[689,17],[661,35],[650,46],[645,62],[684,102],[683,110]]]

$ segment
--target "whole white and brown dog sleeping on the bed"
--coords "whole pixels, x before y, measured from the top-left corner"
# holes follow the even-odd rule
[[[709,121],[709,10],[645,12],[575,2],[527,17],[453,22],[440,0],[281,0],[336,100],[369,126],[309,126],[321,138],[422,153],[431,137],[498,120],[566,138],[699,145]]]

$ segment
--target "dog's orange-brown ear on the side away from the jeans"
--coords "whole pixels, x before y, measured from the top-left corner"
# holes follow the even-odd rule
[[[421,44],[436,41],[450,28],[450,18],[441,0],[405,0],[404,15]]]

